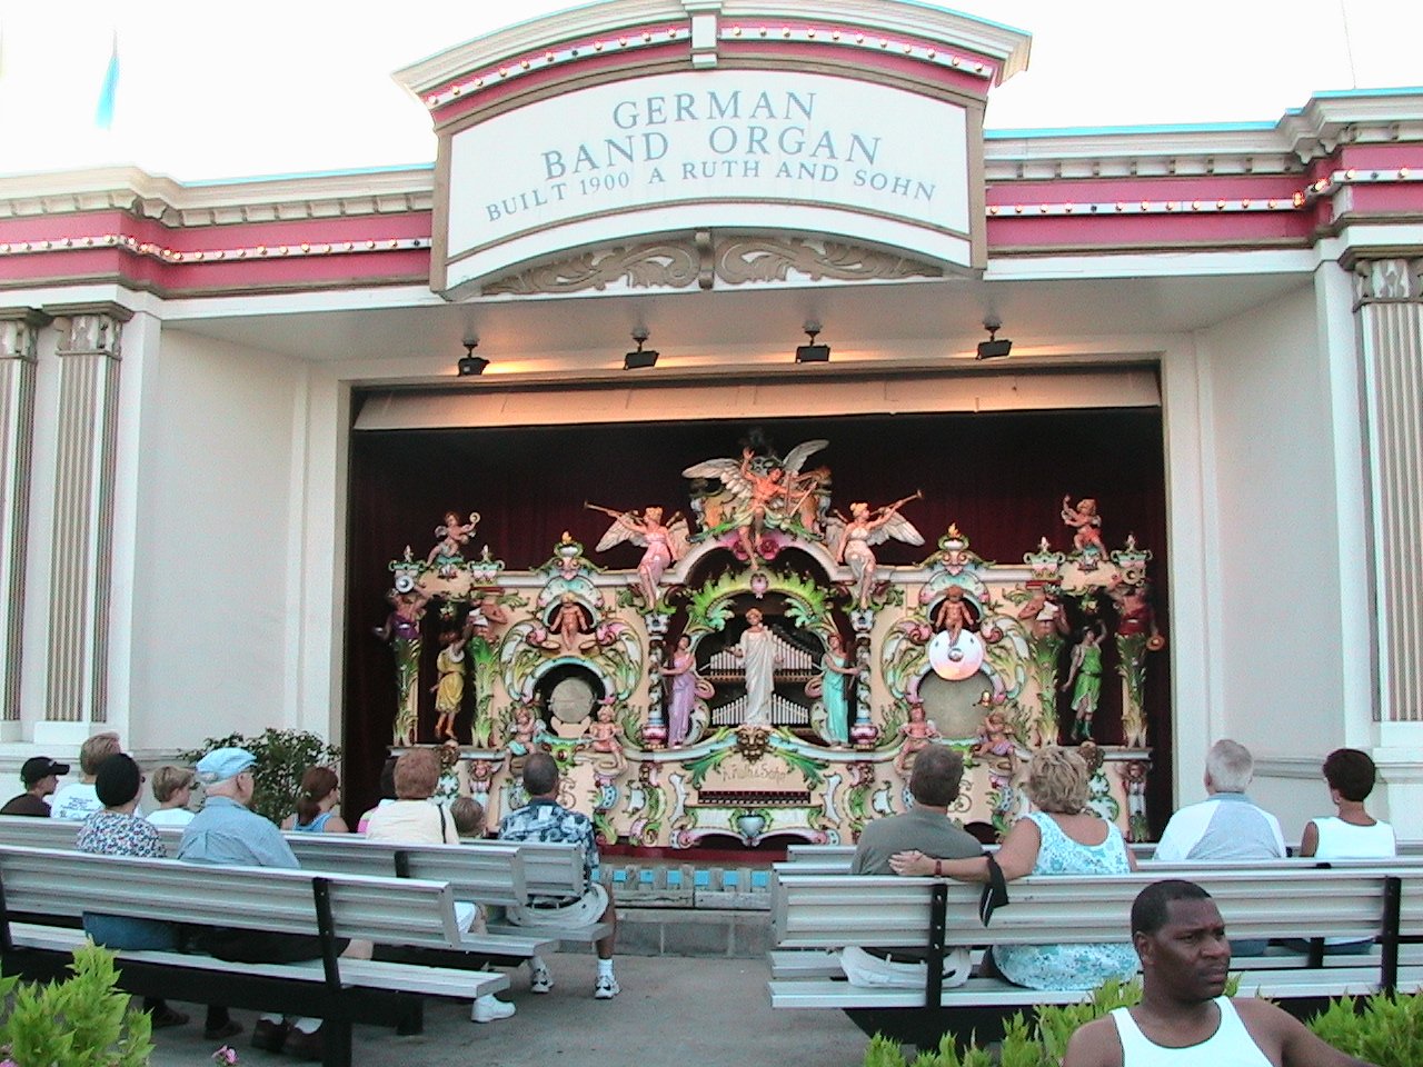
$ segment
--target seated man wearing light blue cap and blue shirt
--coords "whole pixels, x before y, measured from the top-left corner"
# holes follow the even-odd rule
[[[198,761],[198,781],[206,798],[184,828],[179,859],[219,866],[300,866],[276,824],[248,807],[256,761],[246,748],[215,748]],[[218,959],[235,963],[296,963],[322,957],[320,938],[302,933],[216,928],[208,930],[202,945]],[[337,943],[339,950],[344,947],[346,942]],[[263,1014],[252,1030],[252,1046],[320,1060],[320,1020]]]

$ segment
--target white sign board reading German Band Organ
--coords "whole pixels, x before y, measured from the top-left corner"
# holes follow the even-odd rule
[[[609,240],[784,229],[970,265],[968,117],[824,74],[596,85],[451,138],[445,287]]]

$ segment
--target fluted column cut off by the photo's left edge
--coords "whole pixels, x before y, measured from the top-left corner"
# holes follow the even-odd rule
[[[0,720],[20,718],[24,562],[34,437],[34,363],[50,316],[0,309]]]

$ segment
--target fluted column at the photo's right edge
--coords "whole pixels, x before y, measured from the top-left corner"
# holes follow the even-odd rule
[[[1423,721],[1423,259],[1355,265],[1383,721]]]

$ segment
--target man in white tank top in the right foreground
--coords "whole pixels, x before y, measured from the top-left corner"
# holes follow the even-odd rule
[[[1131,905],[1141,1003],[1087,1023],[1063,1067],[1370,1067],[1266,1000],[1222,996],[1231,966],[1211,895],[1171,879]]]

